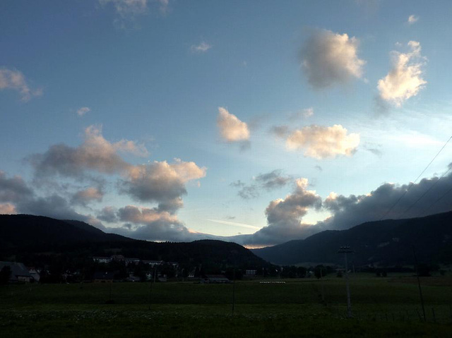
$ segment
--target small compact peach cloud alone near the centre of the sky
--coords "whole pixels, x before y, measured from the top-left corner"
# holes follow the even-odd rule
[[[225,108],[218,108],[217,126],[222,139],[226,142],[249,140],[248,125],[237,119],[234,114],[230,114]]]

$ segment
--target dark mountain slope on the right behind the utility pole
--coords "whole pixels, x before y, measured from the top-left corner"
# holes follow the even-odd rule
[[[322,231],[304,240],[252,250],[280,265],[303,262],[343,263],[340,246],[355,251],[355,265],[413,263],[412,246],[424,262],[452,262],[452,212],[414,219],[367,222],[343,231]]]

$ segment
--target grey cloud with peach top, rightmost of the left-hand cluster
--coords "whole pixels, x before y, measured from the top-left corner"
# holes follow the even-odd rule
[[[182,207],[182,195],[186,194],[185,183],[206,176],[206,168],[194,162],[175,159],[153,162],[129,168],[129,178],[121,181],[121,193],[127,193],[141,202],[160,203],[162,210],[174,211]]]

